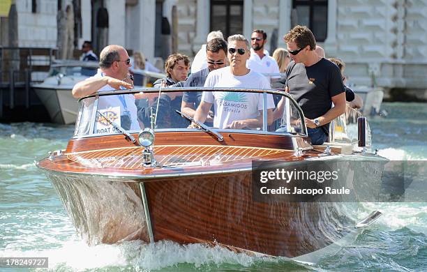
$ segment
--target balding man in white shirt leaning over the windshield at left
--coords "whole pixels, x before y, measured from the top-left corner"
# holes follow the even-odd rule
[[[130,58],[128,52],[120,45],[108,45],[105,47],[100,53],[99,66],[100,68],[96,75],[75,84],[72,91],[75,98],[83,98],[97,91],[133,88],[133,82],[128,74]],[[80,121],[80,133],[93,133],[89,132],[93,101],[93,98],[84,100],[86,110],[83,112],[81,120],[78,120]],[[137,121],[135,97],[132,94],[100,96],[98,109],[108,109],[110,107],[120,107],[121,123],[119,125],[125,130],[140,129],[140,124]]]

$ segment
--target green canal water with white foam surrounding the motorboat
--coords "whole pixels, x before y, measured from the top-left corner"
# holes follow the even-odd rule
[[[382,108],[387,118],[370,119],[380,155],[427,160],[427,104],[384,103]],[[384,216],[315,266],[170,241],[89,247],[35,166],[47,151],[64,149],[72,134],[73,126],[0,123],[0,257],[49,257],[51,271],[427,270],[427,203],[359,204],[354,211],[359,218],[374,209]]]

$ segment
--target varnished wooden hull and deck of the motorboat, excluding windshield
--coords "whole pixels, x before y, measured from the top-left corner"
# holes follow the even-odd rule
[[[156,134],[156,159],[163,165],[156,169],[138,163],[140,147],[121,135],[98,143],[99,138],[72,140],[66,153],[38,166],[89,244],[167,239],[298,257],[343,238],[354,223],[341,204],[253,199],[252,160],[320,158],[313,149],[295,155],[304,139],[229,133],[218,142],[192,132],[172,142],[173,135]],[[250,147],[254,141],[256,148]]]

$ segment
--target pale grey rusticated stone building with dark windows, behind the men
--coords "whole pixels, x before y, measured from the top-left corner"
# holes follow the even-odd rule
[[[179,6],[179,51],[193,55],[206,43],[207,1],[182,0]],[[277,31],[277,47],[292,27],[292,1],[245,0],[243,33]],[[350,82],[387,89],[427,89],[426,0],[329,0],[327,38],[319,43],[327,56],[347,64]],[[213,29],[212,29],[213,30]],[[267,45],[267,49],[269,45]]]

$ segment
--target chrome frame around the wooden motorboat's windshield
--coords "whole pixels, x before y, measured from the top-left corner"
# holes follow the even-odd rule
[[[115,90],[115,91],[102,91],[102,92],[96,92],[93,93],[90,96],[86,96],[84,98],[80,98],[79,99],[79,103],[83,103],[83,100],[87,99],[87,98],[96,98],[93,104],[93,110],[96,110],[98,108],[98,99],[101,96],[112,96],[112,95],[119,95],[119,94],[125,94],[125,93],[159,93],[160,88],[137,88],[137,89],[125,89],[125,90]],[[307,133],[307,127],[306,127],[306,122],[304,121],[304,112],[302,111],[301,107],[299,106],[299,104],[297,103],[296,100],[294,100],[294,98],[292,98],[292,96],[289,93],[286,93],[285,91],[282,91],[280,89],[237,89],[237,88],[218,88],[218,87],[214,87],[214,88],[206,88],[206,87],[175,87],[175,88],[161,88],[161,92],[162,93],[170,93],[170,92],[181,92],[181,91],[190,91],[190,92],[197,92],[197,91],[232,91],[232,92],[250,92],[250,93],[263,93],[263,101],[262,101],[262,105],[263,105],[263,112],[267,112],[267,94],[278,94],[281,96],[285,96],[286,98],[288,98],[290,100],[290,103],[292,103],[292,105],[294,105],[294,107],[297,109],[297,112],[299,114],[299,116],[301,116],[301,133],[297,133],[295,136],[300,136],[300,137],[308,137],[308,133]],[[95,122],[95,116],[94,114],[92,114],[92,119],[91,122],[94,123]],[[77,125],[77,124],[76,124]],[[213,130],[218,131],[218,132],[223,132],[223,133],[227,133],[227,132],[233,132],[233,133],[255,133],[255,134],[267,134],[267,135],[280,135],[280,133],[274,133],[274,132],[268,132],[267,131],[267,114],[263,114],[263,125],[262,125],[262,131],[256,131],[256,130],[230,130],[230,129],[218,129],[218,128],[213,128]],[[93,127],[91,125],[91,130],[93,130]],[[190,128],[170,128],[170,129],[165,129],[165,128],[160,128],[160,129],[156,129],[155,131],[192,131],[194,129],[190,129]],[[197,131],[197,130],[195,130]],[[136,131],[130,131],[130,133],[137,133]],[[281,134],[285,134],[285,135],[291,135],[290,133],[281,133]],[[108,134],[108,135],[112,135],[112,134]],[[115,135],[115,134],[114,134]],[[85,138],[85,137],[97,137],[97,136],[103,136],[103,134],[97,134],[97,135],[73,135],[73,138]]]

